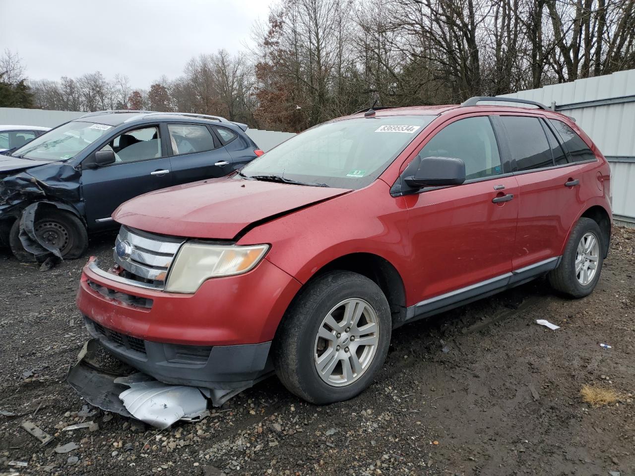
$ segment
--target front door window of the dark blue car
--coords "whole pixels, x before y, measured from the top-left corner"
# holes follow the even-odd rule
[[[161,139],[159,128],[133,129],[116,136],[101,150],[112,150],[115,163],[138,162],[161,157]]]

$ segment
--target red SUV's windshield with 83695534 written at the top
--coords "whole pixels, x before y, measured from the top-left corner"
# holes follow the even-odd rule
[[[370,185],[434,116],[359,117],[293,136],[241,170],[247,178],[337,188]]]

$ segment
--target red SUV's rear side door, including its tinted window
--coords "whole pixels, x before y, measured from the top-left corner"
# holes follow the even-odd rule
[[[579,167],[544,119],[500,116],[518,185],[518,232],[512,265],[519,270],[559,255],[578,216]]]

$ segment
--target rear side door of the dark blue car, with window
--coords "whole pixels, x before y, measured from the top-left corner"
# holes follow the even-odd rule
[[[232,157],[206,124],[167,124],[173,183],[195,182],[231,173]]]

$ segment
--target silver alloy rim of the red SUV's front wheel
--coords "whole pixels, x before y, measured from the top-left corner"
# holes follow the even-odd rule
[[[349,298],[335,305],[315,340],[314,362],[320,378],[333,387],[358,380],[375,357],[379,332],[377,312],[368,302]]]

